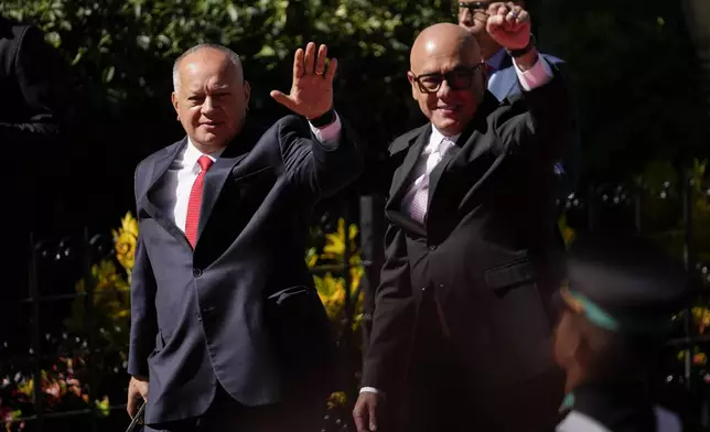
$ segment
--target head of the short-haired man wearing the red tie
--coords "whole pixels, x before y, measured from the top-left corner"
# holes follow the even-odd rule
[[[249,104],[241,66],[206,47],[180,61],[175,84],[172,102],[195,147],[206,153],[224,148],[239,132]]]

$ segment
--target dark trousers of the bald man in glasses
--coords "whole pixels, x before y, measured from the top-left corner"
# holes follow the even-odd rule
[[[443,336],[431,295],[422,299],[416,339],[404,409],[397,426],[383,432],[536,432],[556,424],[559,370],[513,386],[478,386]]]

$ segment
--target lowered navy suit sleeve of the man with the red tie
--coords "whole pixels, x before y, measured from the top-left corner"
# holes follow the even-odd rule
[[[140,166],[139,166],[140,169]],[[138,179],[138,170],[136,177]],[[137,201],[138,201],[138,194]],[[138,203],[140,218],[140,203]],[[139,233],[136,246],[136,264],[131,274],[131,328],[128,352],[128,374],[148,377],[148,356],[155,348],[158,317],[155,315],[155,278]]]

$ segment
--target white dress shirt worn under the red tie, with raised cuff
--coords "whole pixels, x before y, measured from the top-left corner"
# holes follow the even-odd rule
[[[342,129],[341,118],[337,114],[335,114],[335,121],[323,128],[319,129],[311,123],[309,125],[315,138],[324,147],[337,145]],[[237,137],[237,139],[239,138]],[[203,153],[197,150],[192,139],[187,138],[187,145],[178,153],[175,160],[173,160],[163,175],[159,191],[155,194],[158,207],[165,212],[165,215],[181,231],[185,233],[190,192],[201,170],[197,160],[200,156],[206,155],[215,162],[223,151],[224,149],[212,153]]]

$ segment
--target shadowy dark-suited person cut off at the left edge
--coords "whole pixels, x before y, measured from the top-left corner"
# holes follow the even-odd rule
[[[3,236],[4,247],[12,251],[6,266],[12,270],[0,287],[0,300],[6,304],[0,314],[0,349],[6,339],[15,339],[12,345],[28,337],[18,331],[17,320],[21,312],[18,301],[28,295],[30,230],[36,230],[41,216],[50,213],[47,201],[53,194],[49,190],[56,177],[49,170],[56,166],[54,155],[61,154],[62,86],[56,83],[60,68],[55,61],[40,29],[0,17],[0,143],[15,152],[1,176],[6,184],[14,184],[3,188],[3,199],[15,210],[7,213],[11,229]]]

